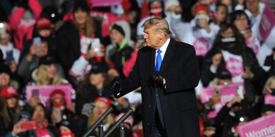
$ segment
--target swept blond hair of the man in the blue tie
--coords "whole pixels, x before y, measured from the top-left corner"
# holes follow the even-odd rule
[[[168,22],[165,19],[162,19],[159,17],[154,17],[146,20],[141,27],[150,28],[153,26],[155,27],[156,33],[164,32],[166,38],[169,38],[172,36],[172,32],[169,29]]]

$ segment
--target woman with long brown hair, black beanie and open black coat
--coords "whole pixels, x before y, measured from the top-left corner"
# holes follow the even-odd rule
[[[58,31],[57,57],[65,74],[74,61],[83,56],[86,59],[91,38],[101,38],[101,25],[89,15],[89,7],[85,0],[76,1],[73,15]]]

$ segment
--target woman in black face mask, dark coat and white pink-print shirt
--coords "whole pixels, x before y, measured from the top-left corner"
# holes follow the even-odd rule
[[[213,79],[218,68],[227,69],[233,83],[244,82],[247,100],[253,102],[256,94],[254,86],[258,86],[262,80],[263,70],[234,25],[221,25],[213,48],[203,60],[201,80],[205,86]]]

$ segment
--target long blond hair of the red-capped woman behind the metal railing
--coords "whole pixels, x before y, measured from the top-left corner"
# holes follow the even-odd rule
[[[97,121],[97,108],[98,108],[98,104],[100,102],[103,102],[103,101],[97,101],[95,103],[95,108],[93,109],[93,113],[90,114],[89,118],[88,118],[88,128],[90,128],[94,123],[95,121]],[[104,123],[106,123],[108,126],[112,125],[115,123],[115,120],[114,120],[114,117],[110,114],[107,116],[107,118],[105,120],[103,120]]]

